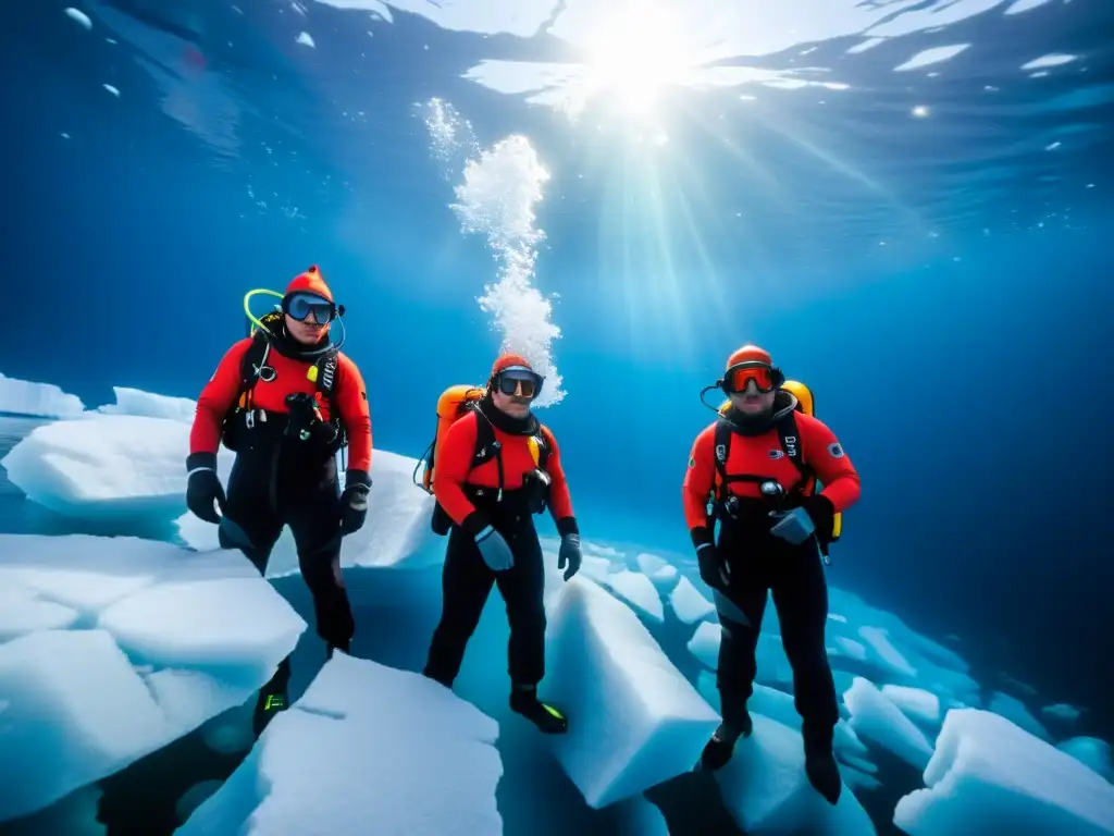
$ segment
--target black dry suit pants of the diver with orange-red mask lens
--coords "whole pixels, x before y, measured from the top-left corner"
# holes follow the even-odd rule
[[[839,721],[839,702],[832,680],[824,628],[828,622],[828,583],[814,538],[792,546],[762,528],[730,521],[720,532],[720,554],[731,570],[726,597],[749,624],[720,613],[722,636],[716,675],[723,719],[740,721],[758,673],[755,651],[766,597],[773,597],[781,622],[781,640],[793,669],[793,702],[801,716],[804,746],[829,751]],[[721,607],[722,609],[722,607]]]

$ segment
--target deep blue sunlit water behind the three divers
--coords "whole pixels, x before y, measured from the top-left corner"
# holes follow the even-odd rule
[[[697,393],[756,341],[862,476],[832,582],[1114,733],[1114,6],[929,0],[895,7],[909,33],[848,54],[866,36],[838,21],[885,4],[786,3],[783,25],[755,4],[721,64],[846,89],[677,84],[648,117],[605,94],[573,121],[465,77],[583,60],[556,27],[442,28],[419,3],[391,23],[313,0],[77,4],[91,31],[41,0],[8,4],[0,32],[4,375],[90,406],[113,385],[196,397],[243,294],[319,263],[377,447],[420,455],[438,393],[481,379],[501,339],[477,303],[495,263],[423,124],[437,97],[480,147],[528,137],[551,175],[532,281],[558,294],[568,393],[543,416],[589,538],[685,552]],[[930,12],[941,30],[899,26]],[[970,46],[895,71],[951,45]],[[1071,59],[1023,69],[1048,55]],[[3,531],[49,527],[0,507]]]

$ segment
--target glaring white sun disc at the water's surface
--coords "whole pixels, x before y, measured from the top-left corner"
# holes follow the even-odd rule
[[[589,43],[587,96],[612,96],[632,116],[653,111],[662,90],[683,81],[692,67],[678,23],[666,10],[646,3],[603,19]]]

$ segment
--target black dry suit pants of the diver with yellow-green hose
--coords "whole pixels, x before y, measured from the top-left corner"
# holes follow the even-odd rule
[[[313,597],[317,635],[348,651],[355,623],[340,568],[336,459],[292,449],[293,444],[247,449],[236,456],[224,511],[247,542],[240,542],[241,532],[222,526],[221,546],[243,551],[262,574],[283,526],[289,525],[299,568]],[[285,684],[289,679],[286,659],[272,682]]]

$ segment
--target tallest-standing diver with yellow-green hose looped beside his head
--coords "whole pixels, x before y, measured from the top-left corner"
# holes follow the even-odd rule
[[[341,538],[363,526],[371,489],[367,390],[355,363],[330,338],[343,313],[316,265],[295,276],[281,310],[236,342],[205,385],[186,459],[189,511],[217,524],[221,546],[243,551],[261,574],[290,526],[330,657],[334,649],[349,651],[355,630],[340,570]],[[227,494],[216,473],[222,441],[236,454]],[[349,460],[341,493],[336,454],[343,447]],[[287,707],[290,672],[287,657],[261,689],[256,735]]]

